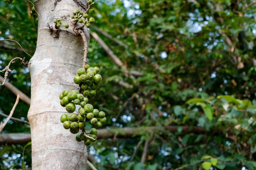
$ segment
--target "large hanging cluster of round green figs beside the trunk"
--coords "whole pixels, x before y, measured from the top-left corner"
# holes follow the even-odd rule
[[[73,134],[77,134],[82,130],[82,133],[76,136],[76,140],[78,142],[84,141],[87,146],[91,142],[95,142],[97,138],[96,128],[101,128],[107,122],[105,112],[93,108],[93,105],[88,103],[93,100],[96,95],[96,89],[102,81],[101,75],[98,74],[99,71],[98,67],[92,68],[90,65],[79,68],[77,75],[74,77],[74,82],[79,85],[80,91],[77,89],[72,91],[64,90],[59,96],[61,106],[65,107],[68,112],[68,114],[61,115],[60,120],[63,123],[63,127],[70,129]],[[76,105],[81,106],[78,114],[73,113],[76,110]],[[93,127],[90,133],[85,132],[86,120],[96,127]]]

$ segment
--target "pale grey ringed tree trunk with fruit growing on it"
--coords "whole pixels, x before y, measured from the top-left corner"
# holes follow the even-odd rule
[[[29,61],[32,169],[74,170],[78,164],[76,170],[84,170],[87,153],[83,152],[87,148],[62,126],[60,116],[67,112],[58,97],[64,89],[78,88],[73,77],[82,66],[84,44],[72,26],[55,29],[53,21],[61,18],[62,25],[71,24],[72,12],[85,11],[87,0],[35,0],[34,3],[39,24],[36,51]],[[89,42],[89,30],[84,28],[84,31]]]

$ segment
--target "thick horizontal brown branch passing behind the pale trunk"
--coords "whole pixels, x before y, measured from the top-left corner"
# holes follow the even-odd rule
[[[143,136],[146,133],[157,133],[169,131],[171,133],[177,132],[179,126],[149,126],[149,127],[122,127],[122,128],[112,128],[112,129],[99,129],[97,139],[108,139],[113,138],[116,135],[117,138],[133,138],[136,136]],[[196,133],[204,134],[206,130],[204,127],[191,127],[183,126],[182,133]],[[216,133],[222,133],[216,132]],[[9,133],[0,135],[0,144],[26,144],[31,141],[31,135],[29,133]]]

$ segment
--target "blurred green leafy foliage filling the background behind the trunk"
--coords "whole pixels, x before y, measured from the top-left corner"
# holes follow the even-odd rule
[[[94,165],[99,170],[256,169],[254,1],[95,2],[95,26],[127,47],[95,28],[91,31],[99,34],[128,71],[143,74],[136,77],[122,72],[91,37],[88,60],[102,68],[104,80],[93,105],[107,113],[104,128],[178,128],[176,133],[160,128],[160,132],[148,131],[140,137],[99,140],[89,147],[97,161]],[[16,40],[29,54],[35,52],[37,40],[31,6],[26,0],[14,0],[13,4],[0,1],[0,39]],[[15,43],[0,42],[0,47],[1,69],[14,57],[29,60]],[[30,96],[28,69],[18,62],[11,67],[16,71],[9,75],[9,82]],[[120,85],[120,81],[132,88]],[[15,99],[1,86],[0,112],[9,114]],[[14,117],[27,120],[28,109],[29,105],[20,101]],[[206,131],[184,132],[184,126],[200,126]],[[10,121],[1,133],[29,131],[28,125]],[[149,146],[144,148],[147,141]],[[30,145],[0,148],[0,169],[31,167]],[[146,161],[142,162],[146,149]]]

